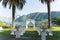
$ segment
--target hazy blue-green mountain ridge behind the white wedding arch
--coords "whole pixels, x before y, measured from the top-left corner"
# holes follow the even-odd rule
[[[60,12],[51,12],[52,19],[57,16],[60,16]],[[35,21],[41,21],[42,19],[48,19],[48,14],[44,12],[30,13],[28,15],[20,16],[19,18],[16,19],[16,21],[21,22],[21,21],[24,21],[25,19],[34,19]]]

